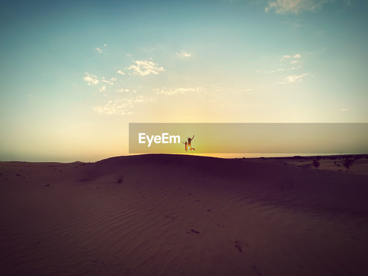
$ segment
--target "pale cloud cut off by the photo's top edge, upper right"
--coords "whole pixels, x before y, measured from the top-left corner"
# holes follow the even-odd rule
[[[303,11],[318,12],[322,9],[322,5],[330,0],[276,0],[269,1],[265,12],[275,9],[275,13],[294,13],[298,14]]]

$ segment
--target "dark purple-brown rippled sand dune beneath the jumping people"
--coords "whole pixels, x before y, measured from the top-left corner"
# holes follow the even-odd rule
[[[2,275],[368,275],[365,175],[185,155],[0,173]]]

